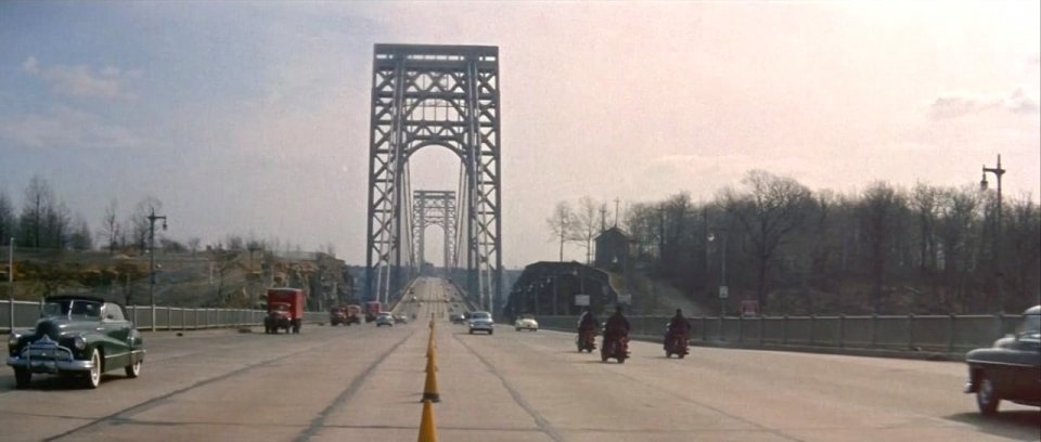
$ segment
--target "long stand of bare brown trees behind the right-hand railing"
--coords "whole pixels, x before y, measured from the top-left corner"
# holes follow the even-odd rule
[[[547,220],[562,259],[565,242],[591,253],[614,223],[605,203],[578,207]],[[1041,210],[1006,196],[999,225],[998,207],[975,186],[840,194],[754,170],[711,200],[639,203],[618,223],[638,268],[706,307],[728,286],[731,311],[756,300],[766,314],[1018,313],[1041,296]]]

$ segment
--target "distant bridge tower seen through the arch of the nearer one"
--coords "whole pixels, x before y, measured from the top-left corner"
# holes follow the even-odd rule
[[[459,218],[455,211],[455,192],[415,191],[412,194],[412,262],[423,265],[426,262],[426,227],[440,226],[445,232],[444,260],[445,271],[451,274],[459,262],[455,250],[455,233],[459,231]]]

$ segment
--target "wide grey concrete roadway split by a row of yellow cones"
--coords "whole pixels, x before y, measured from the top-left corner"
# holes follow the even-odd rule
[[[1038,440],[1041,413],[975,413],[963,364],[694,348],[666,360],[633,342],[624,365],[577,353],[570,334],[468,335],[454,295],[415,286],[399,311],[437,318],[440,441]],[[420,306],[422,301],[422,306]],[[139,379],[98,390],[0,376],[0,440],[414,441],[427,322],[146,335]]]

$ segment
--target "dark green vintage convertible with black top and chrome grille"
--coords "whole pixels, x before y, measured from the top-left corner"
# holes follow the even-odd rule
[[[101,375],[124,368],[141,374],[144,342],[115,302],[89,296],[52,296],[44,300],[36,329],[11,334],[8,365],[15,387],[26,388],[33,374],[68,375],[98,388]]]

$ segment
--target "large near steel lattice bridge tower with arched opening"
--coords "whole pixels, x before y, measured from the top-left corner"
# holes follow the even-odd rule
[[[460,246],[467,295],[502,292],[499,48],[376,44],[372,61],[365,297],[389,301],[413,256],[409,158],[427,146],[460,159]],[[462,263],[460,263],[462,265]],[[457,281],[460,285],[463,282]]]

